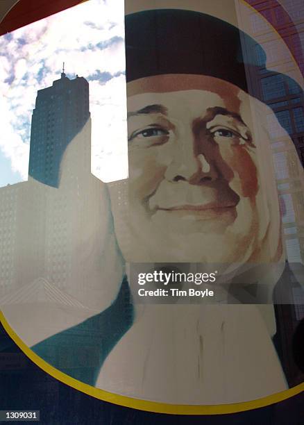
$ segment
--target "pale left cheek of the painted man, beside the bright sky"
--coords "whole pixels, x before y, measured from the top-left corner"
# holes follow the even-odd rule
[[[162,181],[166,167],[158,148],[129,151],[129,197],[135,201],[151,195]]]

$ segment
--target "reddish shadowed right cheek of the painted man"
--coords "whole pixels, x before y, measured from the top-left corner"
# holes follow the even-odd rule
[[[242,197],[253,198],[259,188],[257,181],[257,167],[251,154],[242,146],[221,149],[221,157],[233,172],[229,178],[231,188]]]

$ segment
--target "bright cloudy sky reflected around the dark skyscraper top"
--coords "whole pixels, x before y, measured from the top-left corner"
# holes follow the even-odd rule
[[[60,78],[90,83],[92,173],[126,178],[124,0],[90,0],[0,38],[0,186],[28,178],[37,90]]]

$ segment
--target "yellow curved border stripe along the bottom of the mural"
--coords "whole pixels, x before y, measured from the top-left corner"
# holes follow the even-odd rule
[[[198,406],[198,405],[185,405],[185,404],[168,404],[168,403],[158,403],[155,401],[146,401],[139,399],[132,399],[130,397],[121,396],[119,394],[114,394],[112,392],[104,391],[92,385],[87,385],[78,381],[77,379],[71,378],[71,376],[60,372],[55,367],[49,365],[37,356],[26,344],[19,338],[17,333],[12,330],[3,313],[0,311],[0,322],[3,325],[3,328],[6,330],[10,338],[17,344],[17,346],[22,349],[24,354],[30,358],[35,365],[39,366],[40,369],[47,372],[47,374],[53,376],[53,378],[58,379],[62,383],[69,385],[70,387],[75,388],[78,391],[84,392],[96,399],[103,401],[108,401],[109,403],[118,404],[119,406],[124,406],[127,408],[133,408],[137,410],[144,410],[146,412],[155,412],[155,413],[167,413],[171,415],[223,415],[226,413],[237,413],[244,412],[246,410],[252,410],[256,408],[262,408],[269,406],[269,404],[278,403],[278,401],[283,401],[289,399],[290,397],[300,394],[304,391],[304,383],[296,385],[296,387],[291,388],[290,390],[285,390],[272,394],[268,397],[262,399],[257,399],[253,401],[246,401],[244,403],[233,403],[233,404],[221,404],[221,405],[208,405],[208,406]]]

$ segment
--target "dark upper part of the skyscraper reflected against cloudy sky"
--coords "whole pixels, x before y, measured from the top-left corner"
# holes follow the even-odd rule
[[[63,68],[60,79],[37,93],[28,175],[58,187],[62,155],[89,117],[89,84],[83,77],[70,80]]]

